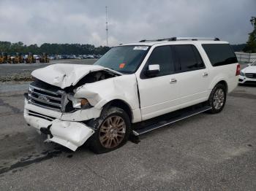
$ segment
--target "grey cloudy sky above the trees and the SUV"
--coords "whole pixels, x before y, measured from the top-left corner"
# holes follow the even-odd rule
[[[246,42],[255,0],[0,0],[0,41],[105,45],[171,36]]]

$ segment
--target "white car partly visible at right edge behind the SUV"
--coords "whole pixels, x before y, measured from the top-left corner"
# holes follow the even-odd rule
[[[256,84],[256,60],[241,70],[239,84]]]

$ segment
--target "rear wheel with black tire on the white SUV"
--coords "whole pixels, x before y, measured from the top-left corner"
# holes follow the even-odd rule
[[[211,110],[208,110],[211,114],[217,114],[222,111],[225,106],[227,98],[227,89],[225,85],[217,84],[211,91],[211,95],[208,98],[208,106],[211,106]]]

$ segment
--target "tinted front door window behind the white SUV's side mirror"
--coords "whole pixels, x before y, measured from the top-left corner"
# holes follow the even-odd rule
[[[174,64],[170,46],[155,47],[148,58],[147,66],[151,64],[159,64],[159,76],[173,74]]]

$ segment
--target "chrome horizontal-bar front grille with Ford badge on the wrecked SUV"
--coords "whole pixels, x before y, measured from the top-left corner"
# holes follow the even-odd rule
[[[64,105],[66,105],[66,97],[66,93],[56,87],[47,87],[46,90],[46,88],[35,86],[33,83],[29,85],[29,103],[45,109],[63,112]]]

